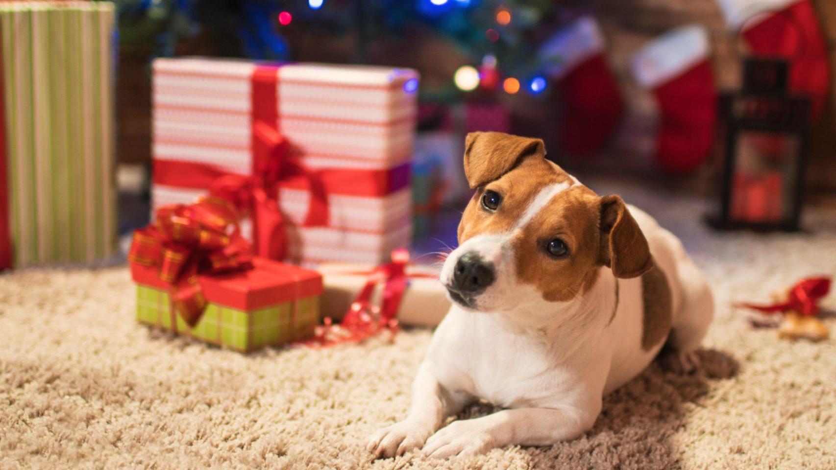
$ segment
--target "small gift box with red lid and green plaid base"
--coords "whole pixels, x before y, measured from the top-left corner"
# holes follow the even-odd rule
[[[166,235],[182,235],[187,230],[180,227],[162,233],[166,220],[182,223],[189,219],[184,215],[201,204],[170,206],[168,210],[176,212],[171,217],[162,215],[167,209],[163,208],[156,225],[135,233],[130,274],[137,284],[137,320],[242,352],[312,336],[323,292],[318,272],[250,257],[246,242],[243,250],[232,254],[241,239],[237,234],[224,235],[227,230],[217,231],[222,242],[216,250],[201,247],[180,256],[182,245],[172,244]],[[196,235],[194,240],[207,245],[211,235]],[[218,261],[221,253],[226,258]],[[180,275],[166,275],[178,257],[186,260],[174,269]],[[207,261],[216,268],[207,269]],[[222,269],[217,269],[221,264]],[[193,272],[189,272],[190,265],[196,266]]]

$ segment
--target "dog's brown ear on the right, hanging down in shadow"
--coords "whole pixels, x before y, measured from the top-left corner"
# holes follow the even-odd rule
[[[600,260],[620,278],[638,277],[653,267],[653,256],[630,210],[619,196],[600,199]]]

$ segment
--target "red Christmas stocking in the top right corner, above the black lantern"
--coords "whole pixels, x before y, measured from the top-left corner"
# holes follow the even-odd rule
[[[717,0],[729,27],[740,30],[752,53],[788,58],[789,86],[824,109],[830,83],[827,46],[809,0]]]

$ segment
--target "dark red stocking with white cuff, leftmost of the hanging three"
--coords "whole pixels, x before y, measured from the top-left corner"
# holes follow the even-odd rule
[[[560,136],[569,154],[601,149],[619,123],[624,102],[604,58],[604,38],[594,19],[583,17],[540,48],[563,103]]]

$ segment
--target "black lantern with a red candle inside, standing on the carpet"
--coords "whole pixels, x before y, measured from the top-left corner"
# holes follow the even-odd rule
[[[743,88],[722,93],[719,229],[798,230],[810,100],[788,93],[788,63],[748,58]]]

